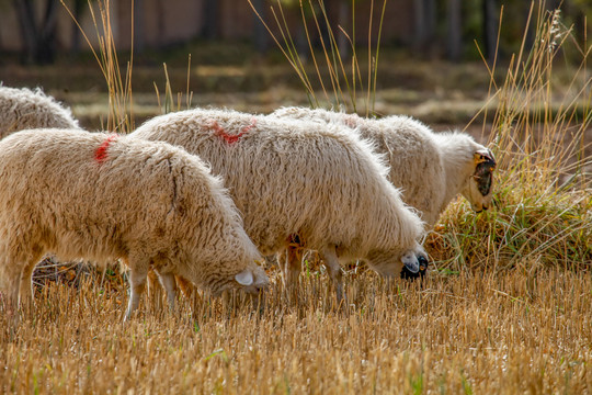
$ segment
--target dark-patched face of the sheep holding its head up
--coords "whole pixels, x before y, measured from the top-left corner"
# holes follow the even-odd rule
[[[496,158],[491,150],[485,147],[477,149],[473,156],[473,174],[463,190],[463,195],[477,213],[488,210],[491,205],[493,170],[496,170]]]

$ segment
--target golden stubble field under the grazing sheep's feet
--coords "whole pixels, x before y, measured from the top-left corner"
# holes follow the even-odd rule
[[[50,284],[15,332],[0,315],[2,393],[517,394],[592,392],[592,275],[432,273],[424,284],[278,272],[265,307],[157,291],[123,324],[126,287]]]

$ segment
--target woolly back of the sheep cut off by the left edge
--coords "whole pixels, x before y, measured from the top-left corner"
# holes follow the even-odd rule
[[[59,127],[78,128],[70,109],[60,105],[41,89],[0,86],[0,138],[23,129]]]

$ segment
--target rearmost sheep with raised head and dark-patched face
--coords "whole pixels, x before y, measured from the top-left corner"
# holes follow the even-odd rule
[[[491,204],[496,160],[489,149],[463,133],[433,133],[408,116],[369,120],[321,109],[284,108],[273,116],[329,122],[355,128],[390,166],[388,178],[402,200],[415,207],[431,228],[448,203],[463,194],[477,212]]]

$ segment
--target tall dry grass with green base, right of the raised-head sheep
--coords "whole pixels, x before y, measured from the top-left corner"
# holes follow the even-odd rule
[[[496,111],[487,105],[479,115],[499,162],[496,210],[474,215],[459,202],[449,207],[434,242],[454,253],[440,253],[441,267],[592,269],[592,157],[585,140],[592,46],[579,46],[560,16],[533,2],[520,53],[501,72],[497,61],[488,68]],[[527,48],[531,24],[536,34]],[[561,58],[573,47],[576,66]],[[571,71],[567,86],[557,69]]]

